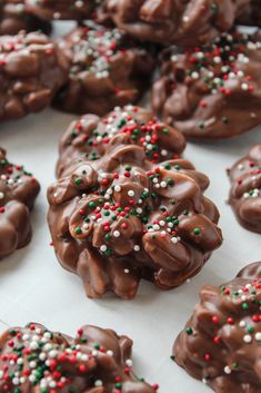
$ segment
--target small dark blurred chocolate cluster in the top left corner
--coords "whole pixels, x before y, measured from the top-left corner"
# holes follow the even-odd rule
[[[21,30],[50,32],[49,22],[26,12],[24,1],[2,0],[0,2],[0,35],[17,35]]]

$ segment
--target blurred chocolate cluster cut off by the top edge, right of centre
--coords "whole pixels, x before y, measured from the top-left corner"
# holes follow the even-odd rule
[[[108,10],[128,33],[160,43],[197,46],[228,31],[250,0],[108,0]]]

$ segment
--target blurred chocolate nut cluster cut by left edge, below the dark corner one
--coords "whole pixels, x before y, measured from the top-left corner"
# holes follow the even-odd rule
[[[0,37],[0,120],[48,107],[68,72],[67,58],[44,35]]]

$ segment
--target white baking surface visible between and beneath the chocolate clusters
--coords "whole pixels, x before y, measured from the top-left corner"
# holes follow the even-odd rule
[[[261,141],[261,128],[233,140],[188,144],[184,157],[211,179],[207,195],[218,205],[224,243],[190,283],[161,292],[142,283],[133,301],[113,296],[93,301],[86,297],[80,278],[57,263],[46,222],[47,187],[54,180],[58,140],[76,117],[47,109],[19,121],[0,126],[0,146],[8,158],[24,164],[41,183],[32,213],[33,239],[0,263],[0,331],[6,325],[30,321],[74,334],[82,324],[97,324],[128,334],[134,341],[134,369],[161,393],[211,392],[170,361],[174,338],[190,316],[203,284],[221,284],[248,263],[261,261],[261,235],[237,223],[225,199],[229,181],[225,168]]]

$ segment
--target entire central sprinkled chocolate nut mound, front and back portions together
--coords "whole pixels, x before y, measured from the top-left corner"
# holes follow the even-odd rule
[[[175,158],[182,138],[149,114],[129,106],[100,121],[87,116],[61,143],[49,226],[58,259],[89,297],[132,298],[141,278],[178,286],[222,242],[219,213],[203,196],[209,179]]]

